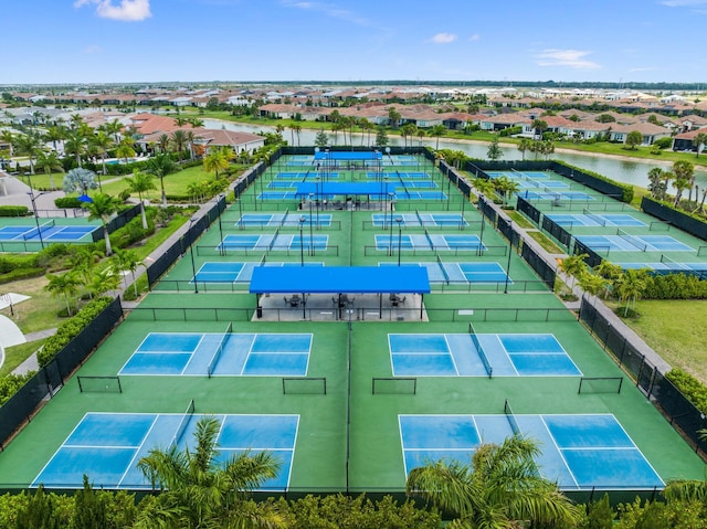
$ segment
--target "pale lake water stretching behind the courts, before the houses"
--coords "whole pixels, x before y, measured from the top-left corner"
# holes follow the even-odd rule
[[[274,133],[274,127],[264,127],[258,125],[246,125],[246,124],[236,124],[229,121],[221,121],[218,119],[204,119],[204,127],[207,128],[223,128],[226,130],[234,131],[243,131],[243,133],[253,133],[257,134],[258,131]],[[283,133],[283,137],[288,141],[289,145],[314,145],[315,137],[317,135],[316,130],[303,129],[299,135],[295,134],[294,142],[292,137],[292,131],[289,129],[285,129]],[[334,135],[328,133],[327,136],[333,140]],[[339,133],[338,142],[342,141],[342,135]],[[371,141],[374,139],[374,134],[370,135]],[[391,136],[389,137],[390,145],[392,146],[402,146],[404,145],[403,139],[401,137]],[[354,135],[354,145],[358,146],[368,145],[368,136],[367,135]],[[414,139],[415,146],[420,145],[418,138]],[[436,138],[423,138],[422,145],[436,147]],[[469,142],[462,141],[449,141],[444,140],[444,138],[440,138],[440,148],[441,149],[453,149],[453,150],[462,150],[466,152],[467,156],[472,158],[486,158],[486,152],[488,150],[487,145],[476,145]],[[518,151],[515,147],[504,148],[503,160],[520,160],[523,156],[520,151]],[[526,159],[532,159],[530,156],[526,156]],[[603,158],[598,156],[588,155],[579,155],[579,154],[569,154],[569,152],[555,152],[552,155],[553,159],[563,160],[568,163],[571,163],[576,167],[581,167],[583,169],[588,169],[590,171],[597,172],[599,174],[603,174],[606,178],[615,180],[618,182],[631,183],[633,186],[639,186],[642,188],[648,187],[648,171],[654,167],[661,167],[663,169],[668,169],[672,163],[671,162],[659,162],[656,160],[651,161],[640,161],[640,160],[621,160],[616,158]],[[696,171],[695,181],[700,188],[707,187],[707,171]]]

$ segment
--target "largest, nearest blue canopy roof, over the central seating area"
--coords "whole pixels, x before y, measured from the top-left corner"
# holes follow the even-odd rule
[[[256,266],[251,294],[426,294],[424,266]]]

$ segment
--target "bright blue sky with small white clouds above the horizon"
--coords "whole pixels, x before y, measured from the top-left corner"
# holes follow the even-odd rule
[[[0,84],[707,84],[707,0],[3,0],[0,13]]]

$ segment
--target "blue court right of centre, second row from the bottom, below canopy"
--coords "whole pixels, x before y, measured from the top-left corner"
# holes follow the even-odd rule
[[[553,335],[388,335],[393,377],[580,377]]]

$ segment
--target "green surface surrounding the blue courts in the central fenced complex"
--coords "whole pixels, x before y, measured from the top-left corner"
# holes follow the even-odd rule
[[[391,157],[391,160],[394,161],[394,158]],[[297,163],[306,163],[303,157],[292,159]],[[327,210],[320,202],[320,214],[326,211],[330,215],[330,225],[327,226],[316,225],[317,204],[312,204],[315,218],[313,235],[328,235],[327,247],[321,251],[315,248],[313,252],[307,247],[309,225],[305,222],[277,228],[265,225],[271,220],[263,218],[263,225],[240,229],[236,222],[242,213],[282,214],[289,210],[297,219],[299,215],[309,215],[308,201],[300,204],[298,200],[258,200],[261,187],[267,189],[268,183],[285,180],[278,174],[302,172],[302,167],[306,167],[288,166],[287,159],[281,159],[265,172],[262,182],[256,181],[247,189],[240,204],[232,204],[224,212],[220,228],[218,222],[214,223],[196,242],[192,248],[193,268],[190,255],[179,260],[155,290],[126,317],[77,372],[80,377],[115,377],[141,347],[161,347],[165,351],[158,351],[160,353],[193,355],[190,358],[202,361],[205,367],[208,359],[199,359],[199,348],[192,343],[197,338],[193,337],[208,336],[214,340],[213,347],[204,349],[208,358],[211,358],[220,336],[232,324],[233,336],[249,334],[270,337],[275,334],[282,335],[285,342],[287,337],[310,334],[312,347],[304,380],[282,374],[209,378],[205,368],[200,368],[181,375],[120,375],[123,391],[117,393],[81,392],[77,378],[74,377],[0,453],[2,486],[27,487],[33,483],[89,412],[181,414],[192,399],[197,414],[297,415],[299,422],[287,485],[288,493],[294,494],[403,491],[405,459],[399,423],[401,415],[497,416],[504,414],[506,401],[519,417],[611,414],[663,482],[673,478],[701,479],[703,464],[697,455],[577,321],[576,315],[564,309],[518,256],[516,248],[509,248],[507,241],[487,221],[482,240],[488,250],[481,252],[482,255],[469,248],[421,250],[398,245],[402,234],[424,234],[425,229],[430,235],[482,235],[478,211],[469,203],[462,207],[461,193],[454,187],[450,189],[429,161],[413,160],[418,162],[416,166],[400,166],[400,170],[405,168],[407,172],[429,173],[429,180],[444,190],[449,202],[395,200],[393,215],[412,212],[416,216],[415,210],[461,214],[464,208],[463,218],[468,225],[463,230],[458,226],[435,226],[434,230],[424,225],[403,228],[394,221],[394,216],[392,230],[389,224],[383,230],[374,225],[372,215],[381,212],[390,214],[388,200],[381,203],[368,201],[359,207],[341,200],[337,207],[342,209],[331,209],[333,203],[328,202]],[[399,161],[412,163],[409,158]],[[388,171],[391,167],[394,168],[384,165],[382,169]],[[304,171],[306,174],[306,169]],[[362,169],[339,167],[336,172],[339,181],[366,181],[369,178],[369,171]],[[573,184],[572,191],[582,190]],[[225,255],[218,248],[226,234],[272,236],[277,230],[281,236],[299,237],[302,233],[302,239],[295,239],[294,246],[287,248],[278,248],[274,244],[272,248],[261,251],[226,250]],[[389,241],[392,239],[388,251],[374,247],[374,236],[381,234],[387,235]],[[313,265],[313,274],[316,274],[314,265],[318,263],[325,266],[397,266],[399,258],[403,265],[432,263],[430,269],[433,273],[436,273],[433,264],[439,266],[441,276],[436,277],[440,282],[432,283],[432,293],[425,294],[422,299],[422,319],[418,316],[421,300],[416,295],[408,295],[403,306],[392,306],[387,295],[378,299],[354,293],[354,308],[347,307],[344,317],[337,319],[328,299],[330,296],[325,299],[327,305],[323,305],[324,308],[313,306],[316,299],[304,307],[293,308],[285,305],[282,296],[273,295],[258,301],[255,295],[247,293],[247,282],[238,281],[241,271],[252,264],[281,266],[283,274],[287,273],[288,266],[309,264]],[[497,265],[504,274],[509,272],[509,281],[505,276],[494,276],[495,281],[485,283],[479,279],[483,276],[473,274],[468,276],[473,281],[449,281],[441,272],[445,263],[483,264],[484,267],[493,265],[494,269]],[[205,265],[207,268],[203,268]],[[208,274],[212,275],[202,275],[204,281],[194,284],[194,273],[200,269],[211,271]],[[345,286],[342,292],[346,292]],[[256,315],[257,303],[263,307],[261,317]],[[412,352],[420,353],[419,358],[424,361],[435,361],[439,352],[425,349],[425,343],[441,339],[467,343],[457,348],[457,352],[463,356],[468,353],[468,358],[464,357],[466,360],[476,359],[476,351],[468,338],[469,322],[479,336],[524,335],[524,340],[530,345],[539,340],[532,338],[535,335],[552,336],[581,375],[558,377],[540,372],[532,377],[441,377],[422,372],[416,377],[393,377],[390,335],[420,335],[410,337],[410,340],[413,345],[420,343],[420,351]],[[155,338],[149,338],[155,345],[144,346],[150,334],[156,332],[184,337],[183,348],[171,351],[168,343],[160,346]],[[509,343],[515,342],[511,340]],[[283,347],[278,351],[287,349]],[[508,347],[511,348],[510,345]],[[192,349],[194,352],[189,352]],[[231,349],[224,346],[223,350],[220,363],[230,361],[231,352],[225,351]],[[254,357],[253,349],[246,352],[251,355],[250,361]],[[273,362],[270,364],[272,368],[284,363],[284,357],[271,357],[265,361]],[[599,390],[595,387],[592,390],[589,384],[589,390],[580,393],[581,377],[613,382]],[[615,391],[615,381],[622,377],[624,381],[619,393]],[[479,430],[479,433],[483,440],[486,432]],[[423,447],[434,448],[429,445]],[[457,449],[456,454],[458,457],[468,457],[472,451]],[[599,489],[631,490],[652,489],[654,486],[597,485]],[[49,486],[80,488],[81,483],[55,483]]]

